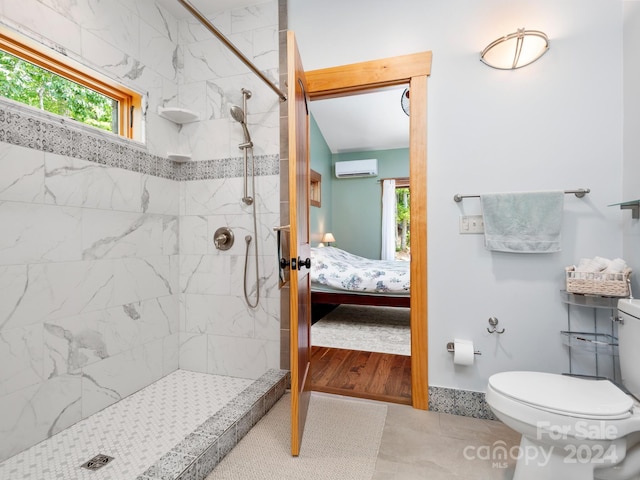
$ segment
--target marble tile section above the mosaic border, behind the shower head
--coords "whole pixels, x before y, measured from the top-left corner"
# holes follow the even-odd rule
[[[277,0],[208,16],[256,67],[278,84]],[[234,158],[241,154],[240,125],[230,119],[232,104],[247,101],[247,125],[256,155],[280,152],[280,100],[197,20],[179,23],[179,105],[198,113],[200,121],[180,130],[179,148],[196,160]]]

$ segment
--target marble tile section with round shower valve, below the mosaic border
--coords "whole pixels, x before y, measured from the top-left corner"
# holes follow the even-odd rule
[[[280,295],[277,286],[276,239],[279,180],[256,179],[260,303],[244,300],[245,236],[253,234],[251,207],[240,198],[241,178],[181,184],[180,215],[180,368],[257,378],[280,362]],[[211,238],[228,226],[235,243],[218,251]],[[253,243],[247,291],[255,301]]]

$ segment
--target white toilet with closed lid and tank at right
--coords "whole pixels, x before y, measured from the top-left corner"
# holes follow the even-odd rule
[[[522,434],[514,480],[640,479],[640,300],[619,300],[618,315],[622,384],[633,396],[608,380],[489,378],[491,410]]]

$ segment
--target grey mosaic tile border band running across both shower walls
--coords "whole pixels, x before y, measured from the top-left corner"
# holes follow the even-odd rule
[[[242,157],[178,163],[132,140],[6,100],[0,100],[0,142],[177,181],[241,177],[244,171]],[[255,160],[256,176],[279,174],[278,155]]]

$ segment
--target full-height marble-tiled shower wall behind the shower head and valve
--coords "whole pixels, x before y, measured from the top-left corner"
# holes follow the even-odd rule
[[[220,12],[209,19],[278,83],[277,0]],[[241,201],[241,171],[181,184],[180,367],[257,378],[280,364],[280,296],[273,232],[280,223],[280,100],[196,20],[180,21],[179,45],[180,106],[200,117],[200,121],[182,127],[180,148],[191,152],[194,159],[215,162],[241,155],[238,144],[243,141],[243,131],[230,119],[229,108],[242,105],[242,88],[252,92],[246,115],[256,155],[258,212],[254,235],[252,207]],[[235,244],[224,252],[216,250],[212,242],[215,230],[222,226],[235,234]],[[254,237],[253,242],[257,237],[259,245],[260,303],[256,309],[249,308],[243,296],[247,235]],[[253,301],[253,243],[250,255],[247,291]]]

